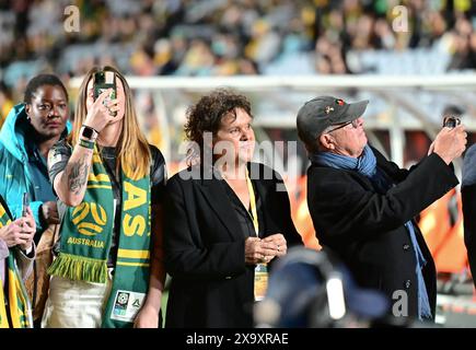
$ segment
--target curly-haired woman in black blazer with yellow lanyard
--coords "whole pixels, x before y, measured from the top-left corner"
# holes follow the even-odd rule
[[[251,163],[252,121],[246,97],[228,90],[187,110],[195,148],[165,200],[166,327],[253,327],[269,265],[302,244],[281,177]]]

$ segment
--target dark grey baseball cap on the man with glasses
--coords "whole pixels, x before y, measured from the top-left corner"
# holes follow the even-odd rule
[[[298,112],[299,137],[304,143],[314,143],[327,127],[361,117],[368,104],[368,100],[347,103],[333,96],[307,101]]]

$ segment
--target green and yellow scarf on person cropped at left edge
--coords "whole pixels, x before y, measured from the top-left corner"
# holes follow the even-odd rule
[[[0,229],[10,223],[11,219],[0,203]],[[14,258],[16,252],[13,249],[10,249],[7,258],[8,307],[5,306],[3,281],[0,280],[0,328],[32,328],[32,306]]]

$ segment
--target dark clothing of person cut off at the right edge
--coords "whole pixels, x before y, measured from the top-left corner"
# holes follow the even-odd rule
[[[464,243],[476,285],[476,144],[467,149],[463,163],[461,185],[464,219]]]

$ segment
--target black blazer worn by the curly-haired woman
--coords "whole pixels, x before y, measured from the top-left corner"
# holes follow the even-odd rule
[[[263,236],[282,233],[288,246],[302,244],[288,192],[277,190],[282,180],[258,166],[272,177],[253,179],[262,199]],[[167,183],[164,253],[172,282],[165,327],[252,327],[254,266],[245,265],[243,231],[221,179],[211,173],[212,179],[183,178],[199,173],[198,167],[183,171]]]

